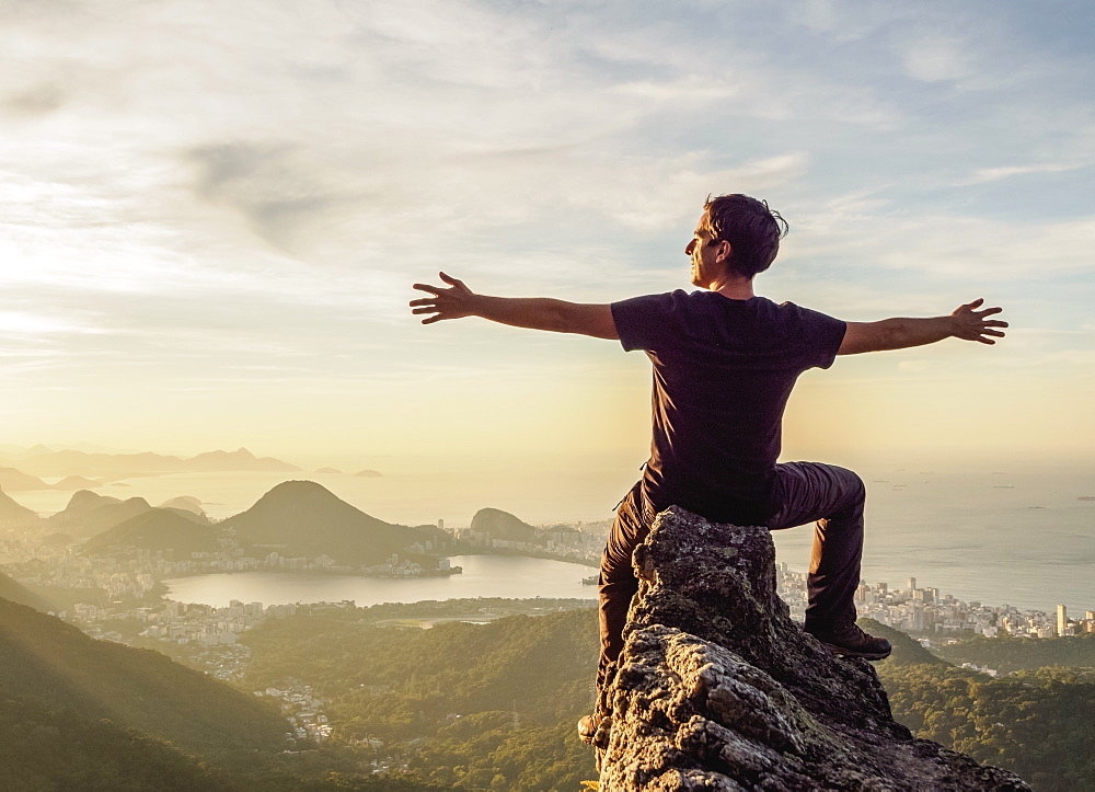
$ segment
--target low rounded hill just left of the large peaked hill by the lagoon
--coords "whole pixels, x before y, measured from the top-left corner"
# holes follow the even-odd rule
[[[124,548],[174,551],[174,559],[220,549],[218,530],[197,515],[170,508],[153,508],[107,528],[83,543],[85,554],[116,552]]]

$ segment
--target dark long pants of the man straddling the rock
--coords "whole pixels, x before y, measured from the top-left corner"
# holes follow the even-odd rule
[[[851,470],[819,462],[775,466],[779,510],[768,528],[780,530],[815,523],[814,552],[807,577],[809,606],[806,623],[842,624],[855,621],[853,598],[860,585],[863,555],[863,504],[866,490]],[[639,484],[616,507],[612,532],[601,556],[601,657],[598,688],[603,688],[623,648],[623,628],[631,599],[638,592],[632,554],[654,521],[654,507]]]

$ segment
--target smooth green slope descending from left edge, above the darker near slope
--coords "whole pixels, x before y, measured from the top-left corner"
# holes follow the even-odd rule
[[[252,696],[8,600],[0,600],[0,693],[110,719],[210,757],[278,750],[286,731],[279,714]]]

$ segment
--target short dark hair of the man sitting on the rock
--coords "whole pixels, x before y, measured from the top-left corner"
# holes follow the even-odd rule
[[[703,208],[712,243],[730,243],[730,266],[739,275],[751,278],[775,261],[780,240],[787,236],[787,221],[770,209],[766,200],[739,194],[708,195]]]

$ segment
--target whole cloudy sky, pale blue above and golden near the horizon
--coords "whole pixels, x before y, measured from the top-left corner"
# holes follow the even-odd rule
[[[1012,325],[807,372],[787,458],[1090,463],[1093,32],[1061,0],[0,2],[2,441],[634,477],[641,353],[422,326],[411,284],[690,288],[741,192],[791,226],[759,294]]]

